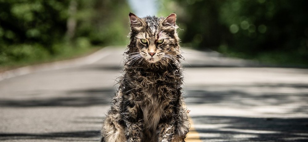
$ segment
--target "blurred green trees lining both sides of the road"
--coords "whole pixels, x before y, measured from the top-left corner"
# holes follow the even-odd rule
[[[308,66],[306,0],[156,2],[156,15],[176,12],[182,46],[263,63]],[[126,0],[0,0],[0,67],[126,45],[129,12],[134,11]]]

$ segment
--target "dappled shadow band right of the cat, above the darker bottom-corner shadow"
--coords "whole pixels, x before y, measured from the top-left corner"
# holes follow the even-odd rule
[[[251,84],[187,87],[188,105],[221,105],[235,108],[294,106],[290,113],[308,113],[308,84]]]

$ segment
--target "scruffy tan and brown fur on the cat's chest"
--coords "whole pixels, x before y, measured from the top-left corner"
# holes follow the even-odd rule
[[[173,98],[170,90],[176,87],[172,84],[175,78],[165,74],[140,72],[134,74],[133,78],[131,88],[138,91],[136,100],[141,100],[139,105],[143,112],[144,125],[148,129],[156,130],[164,107]]]

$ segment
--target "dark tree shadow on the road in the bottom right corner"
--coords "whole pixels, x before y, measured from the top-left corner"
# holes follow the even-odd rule
[[[307,118],[194,116],[195,129],[207,142],[306,142]]]

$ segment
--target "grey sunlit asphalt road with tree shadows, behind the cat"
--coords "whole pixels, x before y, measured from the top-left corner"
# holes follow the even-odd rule
[[[6,73],[13,75],[0,81],[0,141],[99,141],[123,52],[109,47],[87,62]],[[187,141],[308,141],[308,69],[184,52],[184,96],[196,130]]]

